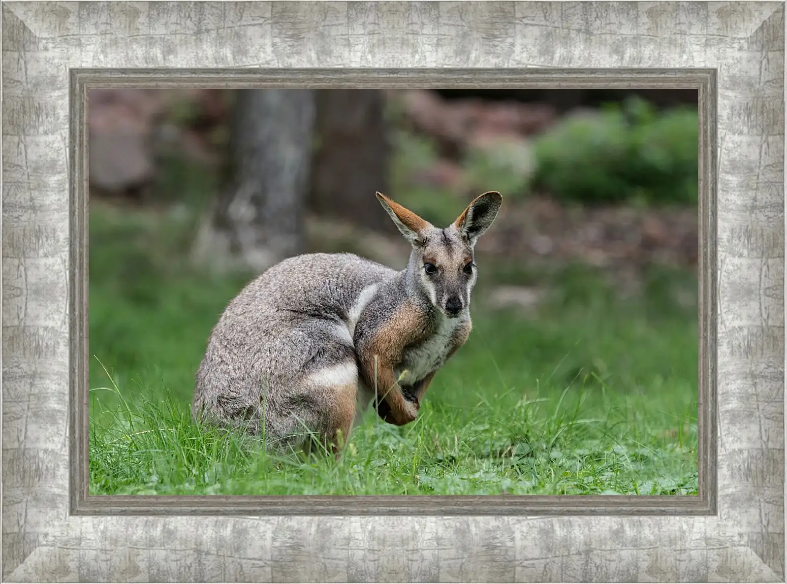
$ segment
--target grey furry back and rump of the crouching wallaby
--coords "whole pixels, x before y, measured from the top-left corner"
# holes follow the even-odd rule
[[[323,431],[331,396],[301,379],[355,363],[353,307],[368,286],[379,284],[382,292],[399,287],[401,278],[402,272],[349,253],[305,254],[269,268],[213,328],[197,372],[194,416],[245,422],[253,434],[281,445],[297,442],[293,434]]]

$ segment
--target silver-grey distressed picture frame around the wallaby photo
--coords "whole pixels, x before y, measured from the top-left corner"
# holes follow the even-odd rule
[[[3,578],[784,580],[781,2],[6,2],[2,20]],[[697,87],[700,496],[89,497],[85,91],[129,83]]]

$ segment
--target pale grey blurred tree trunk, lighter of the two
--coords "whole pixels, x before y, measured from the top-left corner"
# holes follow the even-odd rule
[[[235,91],[224,182],[196,261],[262,272],[301,251],[313,126],[310,90]]]

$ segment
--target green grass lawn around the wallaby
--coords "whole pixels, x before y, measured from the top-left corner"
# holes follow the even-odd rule
[[[198,427],[194,371],[246,278],[187,267],[188,217],[91,205],[90,491],[224,494],[696,494],[696,275],[653,271],[623,299],[593,272],[478,258],[470,340],[421,414],[369,412],[340,460],[268,455]],[[495,283],[549,286],[534,311]]]

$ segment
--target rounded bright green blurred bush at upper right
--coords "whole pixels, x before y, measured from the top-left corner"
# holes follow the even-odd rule
[[[636,99],[567,116],[534,141],[534,186],[556,198],[612,203],[696,204],[696,110],[657,112]]]

